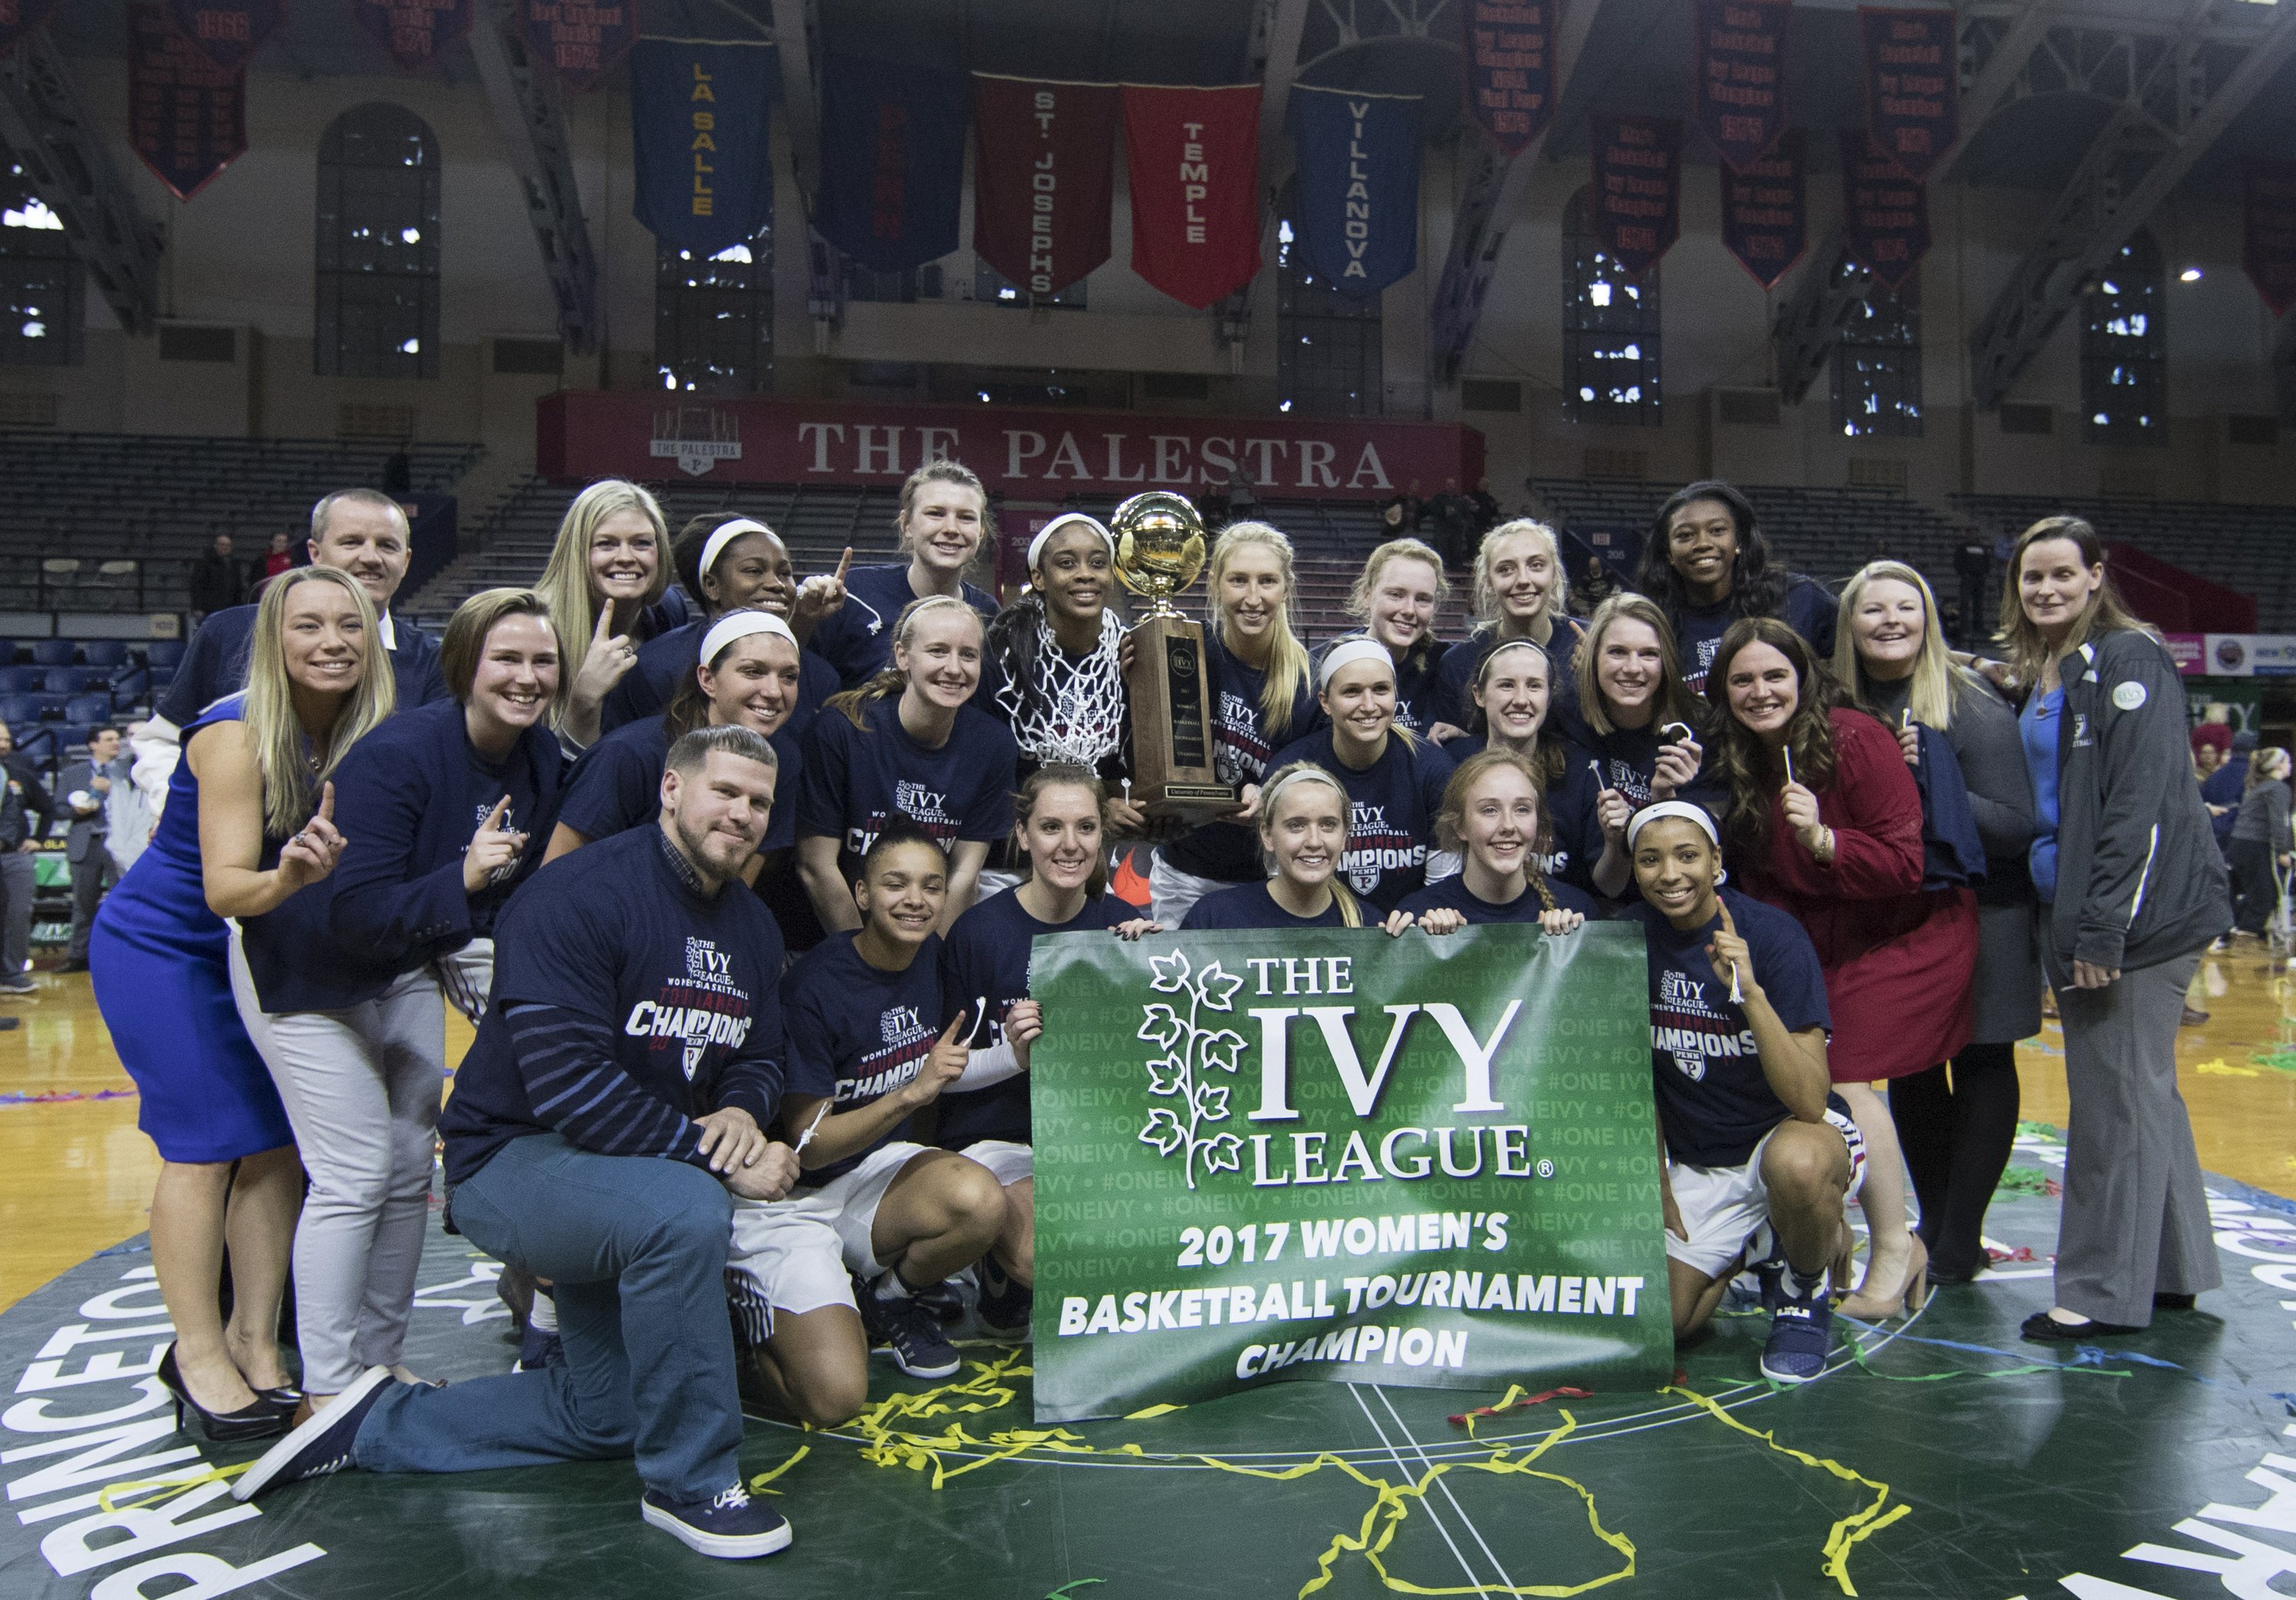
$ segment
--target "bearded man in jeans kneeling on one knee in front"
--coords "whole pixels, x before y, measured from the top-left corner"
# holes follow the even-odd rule
[[[636,1455],[641,1515],[705,1556],[765,1556],[726,1313],[732,1196],[778,1201],[781,932],[732,884],[765,838],[774,746],[670,746],[661,824],[542,868],[496,932],[494,994],[455,1081],[448,1221],[558,1286],[565,1366],[448,1389],[370,1368],[232,1485],[344,1467],[475,1471]],[[728,893],[728,884],[732,884]]]

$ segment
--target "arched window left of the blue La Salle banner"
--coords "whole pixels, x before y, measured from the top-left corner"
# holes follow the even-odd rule
[[[439,140],[372,101],[319,140],[319,294],[312,372],[439,376]]]

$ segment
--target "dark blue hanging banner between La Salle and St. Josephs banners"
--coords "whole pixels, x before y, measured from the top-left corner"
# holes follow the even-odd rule
[[[822,239],[882,273],[955,250],[971,106],[962,71],[822,62]]]

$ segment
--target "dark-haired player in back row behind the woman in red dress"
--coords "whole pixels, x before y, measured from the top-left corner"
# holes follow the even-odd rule
[[[1642,542],[1635,588],[1658,601],[1683,652],[1683,684],[1706,693],[1706,670],[1738,618],[1777,618],[1809,640],[1818,661],[1835,654],[1832,592],[1798,572],[1773,572],[1754,503],[1717,480],[1676,489]]]

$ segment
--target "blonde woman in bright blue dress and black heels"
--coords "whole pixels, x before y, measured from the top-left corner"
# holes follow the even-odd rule
[[[271,1074],[232,1003],[223,918],[257,918],[335,870],[328,776],[395,702],[370,670],[374,604],[333,567],[276,578],[248,686],[184,730],[152,845],[103,900],[87,964],[96,1005],[158,1145],[152,1267],[174,1345],[158,1377],[214,1442],[282,1432],[280,1295],[303,1168]],[[232,1260],[232,1320],[216,1286]]]

